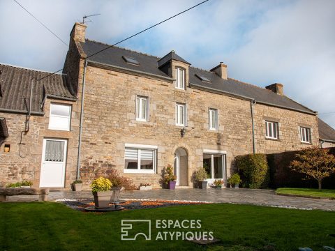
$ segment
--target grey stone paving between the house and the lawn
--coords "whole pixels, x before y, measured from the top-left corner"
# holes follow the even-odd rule
[[[260,206],[278,206],[285,208],[320,209],[335,211],[335,200],[309,199],[276,195],[274,190],[251,190],[223,188],[202,189],[158,189],[133,190],[121,192],[121,199],[167,199],[180,201],[207,201],[214,203],[253,204]],[[91,191],[50,191],[48,200],[56,199],[93,199]],[[38,196],[8,196],[8,201],[38,200]]]

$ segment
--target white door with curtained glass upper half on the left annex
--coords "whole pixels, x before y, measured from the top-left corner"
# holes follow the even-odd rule
[[[65,139],[43,139],[40,188],[64,188],[67,144]]]

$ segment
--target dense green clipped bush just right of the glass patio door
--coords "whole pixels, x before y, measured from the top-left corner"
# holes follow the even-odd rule
[[[236,162],[244,188],[258,189],[269,187],[270,176],[267,155],[256,153],[237,156]]]

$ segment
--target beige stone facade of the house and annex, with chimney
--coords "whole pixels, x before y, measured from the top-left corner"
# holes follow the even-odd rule
[[[70,183],[75,180],[82,78],[84,59],[87,57],[79,42],[84,42],[85,28],[77,24],[77,30],[71,31],[70,48],[64,64],[64,73],[67,73],[78,100],[70,102],[47,98],[44,116],[31,116],[30,130],[22,134],[22,140],[26,115],[0,113],[6,118],[9,132],[4,144],[10,144],[9,153],[4,153],[4,144],[0,147],[2,185],[27,178],[34,181],[35,187],[39,186],[43,139],[47,137],[68,140],[65,189],[69,189]],[[175,78],[173,69],[176,66],[186,70],[188,83],[187,63],[172,60],[168,68],[170,77]],[[222,67],[223,77],[226,78],[226,66],[222,64]],[[148,121],[135,119],[136,96],[149,98]],[[70,132],[48,129],[51,102],[72,105]],[[183,127],[175,125],[176,102],[187,104],[188,123],[184,137],[181,137]],[[209,130],[209,108],[218,109],[218,130]],[[294,151],[319,143],[316,115],[260,104],[253,106],[253,112],[255,149],[258,153]],[[266,120],[278,122],[278,140],[265,139]],[[168,164],[173,166],[174,153],[179,148],[187,153],[187,160],[183,159],[187,162],[186,169],[182,170],[187,180],[184,185],[193,187],[191,176],[203,165],[204,149],[226,153],[228,176],[234,171],[234,157],[253,153],[249,100],[189,86],[185,90],[176,89],[172,80],[99,67],[94,63],[87,66],[82,122],[80,174],[86,189],[92,178],[107,175],[112,168],[133,178],[136,185],[151,183],[154,188],[160,188],[161,172]],[[311,144],[301,144],[299,126],[311,128]],[[125,144],[158,146],[156,174],[124,174]]]

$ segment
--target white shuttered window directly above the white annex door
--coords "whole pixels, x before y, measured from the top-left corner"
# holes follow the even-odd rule
[[[71,106],[51,103],[49,129],[70,130]]]

